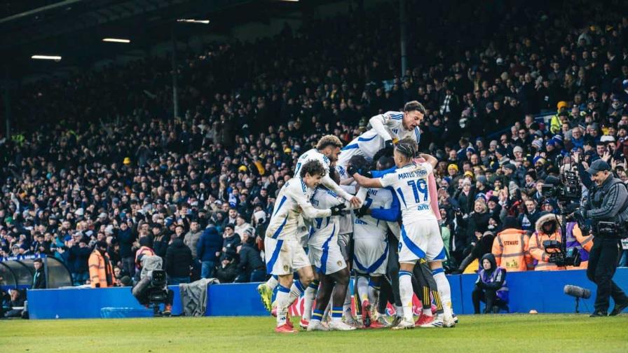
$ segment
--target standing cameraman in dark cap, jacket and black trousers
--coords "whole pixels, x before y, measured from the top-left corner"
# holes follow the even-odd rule
[[[604,160],[592,162],[587,173],[591,175],[594,185],[589,189],[589,198],[585,208],[576,212],[581,212],[585,219],[592,220],[594,233],[593,247],[587,267],[587,277],[597,285],[595,310],[591,316],[607,315],[609,296],[615,300],[615,308],[610,312],[610,315],[614,316],[628,307],[628,297],[613,282],[621,250],[620,237],[601,234],[597,231],[597,226],[600,221],[621,225],[628,220],[628,190],[620,179],[611,175],[610,165]]]

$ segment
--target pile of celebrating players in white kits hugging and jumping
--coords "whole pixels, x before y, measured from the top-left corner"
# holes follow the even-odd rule
[[[397,305],[392,328],[414,328],[413,277],[418,282],[416,293],[424,304],[417,324],[454,326],[449,282],[442,269],[445,253],[435,216],[435,188],[432,191],[430,187],[437,160],[425,154],[419,155],[421,160],[414,159],[421,136],[418,124],[424,113],[420,103],[409,102],[403,112],[371,118],[371,130],[342,151],[341,141],[327,135],[316,148],[299,157],[294,178],[278,194],[264,240],[266,266],[273,277],[260,284],[258,291],[268,310],[276,306],[276,332],[297,332],[287,311],[303,292],[305,312],[301,327],[308,331],[391,326],[385,319],[388,300]],[[396,167],[392,167],[393,161]],[[334,167],[343,174],[341,183]],[[355,217],[353,208],[359,208]],[[301,217],[310,228],[304,235],[297,231]],[[342,227],[341,219],[349,220],[345,223],[353,229]],[[346,250],[348,241],[339,233],[353,235],[354,254],[343,256],[341,248]],[[309,248],[308,255],[301,246],[301,236],[306,238],[303,246]],[[355,291],[360,298],[363,324],[353,318],[347,300],[351,261],[346,260],[350,259],[357,275]],[[299,275],[294,283],[293,272]],[[277,296],[271,304],[275,287]],[[384,295],[384,288],[388,289],[388,296]],[[442,303],[442,314],[436,319],[432,317],[430,289],[439,309]],[[327,312],[331,312],[329,324],[324,319]]]

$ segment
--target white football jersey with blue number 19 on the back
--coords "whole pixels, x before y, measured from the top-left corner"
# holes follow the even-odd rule
[[[397,193],[404,224],[420,220],[436,220],[430,207],[428,191],[428,176],[432,171],[430,163],[415,164],[413,162],[380,178],[383,187],[392,186]]]

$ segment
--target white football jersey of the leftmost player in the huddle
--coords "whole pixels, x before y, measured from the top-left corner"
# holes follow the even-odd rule
[[[312,206],[310,198],[313,192],[301,179],[292,178],[286,181],[277,195],[266,237],[297,240],[301,212],[308,219],[330,216],[332,211],[329,208],[316,209]]]

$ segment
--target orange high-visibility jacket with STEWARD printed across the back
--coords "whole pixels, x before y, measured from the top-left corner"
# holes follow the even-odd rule
[[[528,235],[525,230],[508,228],[493,240],[492,253],[498,266],[507,272],[532,270],[532,258],[528,253]]]

